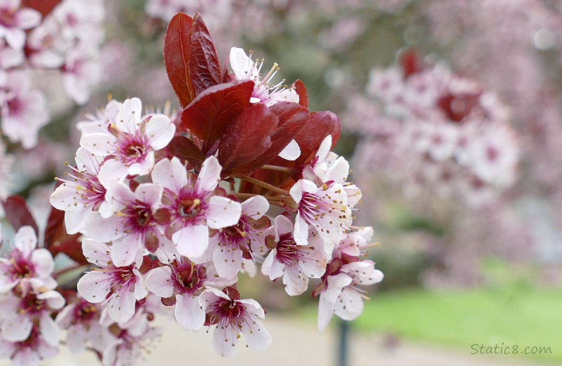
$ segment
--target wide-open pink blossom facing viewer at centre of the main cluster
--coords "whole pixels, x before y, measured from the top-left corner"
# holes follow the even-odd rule
[[[200,257],[209,245],[209,228],[238,223],[241,205],[215,193],[220,171],[213,156],[203,162],[197,178],[175,157],[161,160],[152,171],[152,181],[164,187],[162,203],[171,216],[167,236],[179,254]]]

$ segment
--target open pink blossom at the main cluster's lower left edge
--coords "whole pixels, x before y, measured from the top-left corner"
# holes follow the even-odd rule
[[[108,315],[115,322],[126,322],[135,313],[136,300],[143,299],[148,290],[138,268],[142,264],[140,252],[130,266],[117,267],[111,258],[112,248],[92,239],[84,239],[82,250],[88,262],[96,264],[78,281],[78,292],[90,303],[107,303]]]

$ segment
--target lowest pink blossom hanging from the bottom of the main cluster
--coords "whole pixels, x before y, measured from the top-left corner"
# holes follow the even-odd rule
[[[253,349],[269,347],[271,335],[257,319],[265,317],[260,304],[253,299],[240,300],[240,294],[233,287],[223,291],[207,289],[200,296],[200,304],[207,313],[206,324],[216,324],[212,341],[215,352],[223,357],[234,356],[241,333]]]

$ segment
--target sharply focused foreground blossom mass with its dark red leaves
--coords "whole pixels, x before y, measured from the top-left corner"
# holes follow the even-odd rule
[[[359,316],[357,286],[383,274],[365,258],[373,230],[353,226],[361,191],[331,151],[339,119],[310,112],[302,81],[277,83],[277,64],[266,72],[251,56],[232,48],[221,63],[201,16],[176,14],[164,61],[179,111],[110,100],[81,122],[44,230],[25,200],[3,200],[16,232],[0,263],[4,358],[35,365],[62,339],[130,364],[164,306],[186,330],[214,328],[220,355],[242,335],[265,349],[265,310],[243,299],[239,273],[283,277],[291,296],[318,279],[320,330]],[[60,253],[71,263],[55,269]]]

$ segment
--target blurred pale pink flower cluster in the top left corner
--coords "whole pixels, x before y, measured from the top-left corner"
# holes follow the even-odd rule
[[[49,122],[47,98],[32,78],[58,70],[65,92],[84,104],[99,80],[103,40],[101,0],[0,1],[0,112],[2,134],[30,149]],[[43,85],[48,88],[48,85]]]

